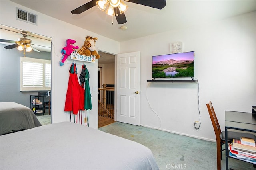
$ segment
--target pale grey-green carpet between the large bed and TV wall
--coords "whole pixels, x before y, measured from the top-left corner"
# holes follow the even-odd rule
[[[115,122],[99,128],[148,147],[154,154],[160,170],[216,170],[216,143],[177,135],[142,126]],[[221,167],[226,169],[225,152],[222,152]],[[235,170],[256,170],[252,164],[228,159],[229,168]]]

